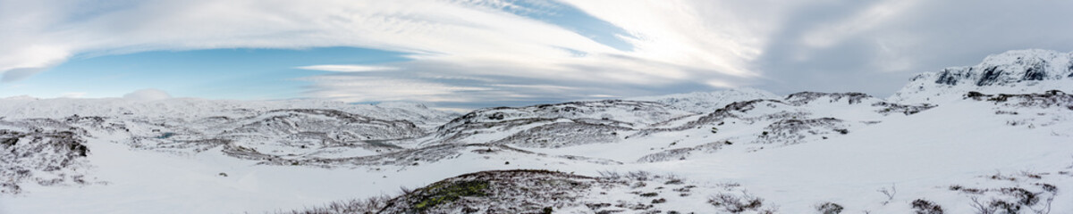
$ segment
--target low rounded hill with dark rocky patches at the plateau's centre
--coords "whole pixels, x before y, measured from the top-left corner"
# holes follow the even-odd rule
[[[493,142],[547,148],[613,142],[622,135],[695,113],[652,102],[596,101],[486,108],[437,128],[428,142]]]

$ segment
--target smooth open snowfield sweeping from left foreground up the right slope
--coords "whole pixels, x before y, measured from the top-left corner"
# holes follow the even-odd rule
[[[964,197],[947,193],[946,186],[972,184],[980,180],[979,177],[996,171],[1046,171],[1073,163],[1073,152],[1070,152],[1073,143],[1069,143],[1069,136],[1052,135],[1071,133],[1073,123],[1035,128],[1010,126],[1008,118],[988,117],[994,116],[994,108],[984,102],[957,101],[913,116],[886,117],[881,123],[862,126],[851,135],[829,140],[755,152],[729,149],[686,160],[622,166],[568,164],[547,167],[544,166],[547,163],[539,159],[500,156],[446,159],[401,171],[320,169],[256,165],[216,152],[174,156],[130,150],[123,144],[105,142],[121,139],[102,136],[104,140],[92,141],[90,162],[95,166],[92,174],[109,184],[77,188],[30,187],[28,196],[4,196],[2,208],[11,213],[262,212],[394,194],[398,186],[415,187],[471,171],[552,168],[582,174],[596,174],[601,170],[646,170],[710,183],[740,183],[751,194],[778,204],[782,211],[810,210],[815,203],[833,201],[844,205],[848,213],[865,210],[899,213],[908,212],[908,205],[903,204],[924,197],[945,204],[950,211],[967,212]],[[761,111],[756,113],[766,113]],[[1069,116],[1061,111],[1050,113]],[[694,128],[626,140],[614,147],[585,144],[569,150],[532,151],[632,163],[651,153],[650,148],[670,148],[667,143],[675,140],[679,142],[674,148],[682,148],[723,138],[748,138],[763,125],[721,128],[715,135],[706,128]],[[681,138],[685,135],[690,137]],[[732,141],[745,143],[744,140]],[[503,165],[503,162],[511,164]],[[220,172],[227,177],[218,175]],[[1073,188],[1070,185],[1073,182],[1054,184],[1059,188]],[[885,196],[876,189],[892,185],[898,194],[890,205],[882,205]],[[1070,199],[1069,196],[1059,197],[1056,201]],[[1071,211],[1073,207],[1056,203],[1054,209]]]

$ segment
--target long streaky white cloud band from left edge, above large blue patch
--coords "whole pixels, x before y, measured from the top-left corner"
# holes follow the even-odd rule
[[[597,43],[567,27],[500,10],[554,13],[540,11],[543,7],[521,7],[510,1],[155,0],[95,3],[89,0],[4,3],[6,9],[2,12],[11,13],[0,15],[0,27],[20,30],[5,33],[9,40],[0,40],[0,47],[5,47],[0,48],[0,56],[4,56],[0,57],[0,71],[47,67],[71,56],[353,46],[410,52],[412,55],[407,57],[412,61],[392,66],[335,64],[299,68],[351,73],[412,70],[457,78],[500,76],[548,82],[673,86],[680,81],[722,78],[720,75],[756,77],[756,73],[745,67],[745,62],[759,54],[758,45],[762,44],[734,41],[752,34],[705,26],[706,17],[700,16],[704,13],[682,14],[677,13],[682,7],[651,6],[662,4],[659,1],[615,2],[628,6],[604,12],[594,11],[591,5],[579,7],[627,29],[631,35],[622,39],[636,47],[630,51]],[[630,17],[629,14],[646,16]],[[671,17],[674,19],[660,17],[675,14],[680,15]],[[644,17],[660,18],[628,25],[645,20]],[[677,21],[682,26],[662,21]],[[17,77],[24,76],[27,75]],[[11,78],[15,79],[18,78]],[[321,91],[311,95],[340,96],[341,91],[353,91],[338,88],[338,81],[310,80],[314,91]],[[549,87],[532,90],[541,90],[539,88],[558,90]],[[332,90],[340,91],[326,92]],[[417,94],[428,96],[427,93],[412,95]]]

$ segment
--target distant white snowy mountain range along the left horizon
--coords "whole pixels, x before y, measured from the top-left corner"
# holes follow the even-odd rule
[[[210,117],[242,118],[277,109],[333,109],[382,120],[406,120],[415,124],[437,126],[455,113],[430,109],[414,103],[353,105],[323,100],[293,101],[211,101],[203,98],[132,100],[132,98],[34,98],[15,96],[0,98],[0,117],[8,119],[63,118],[73,114],[114,118]]]

